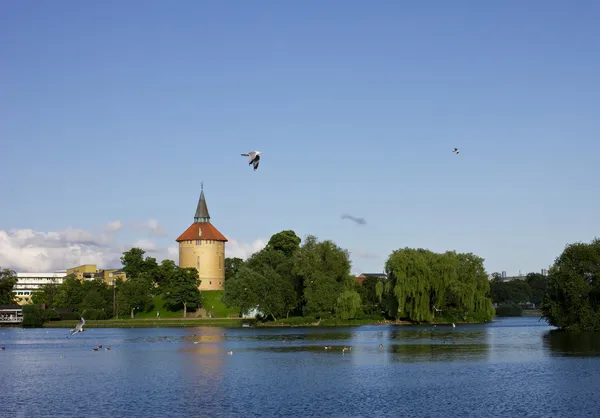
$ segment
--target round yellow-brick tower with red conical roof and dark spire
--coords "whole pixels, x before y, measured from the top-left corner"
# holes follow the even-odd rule
[[[227,238],[210,223],[204,186],[194,223],[176,241],[179,243],[179,267],[198,269],[198,278],[201,280],[199,289],[223,290]]]

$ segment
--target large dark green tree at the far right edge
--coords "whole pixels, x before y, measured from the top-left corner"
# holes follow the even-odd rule
[[[570,331],[600,331],[600,239],[565,247],[548,271],[542,314]]]

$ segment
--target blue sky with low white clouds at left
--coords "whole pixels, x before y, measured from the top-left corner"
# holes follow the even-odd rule
[[[292,229],[356,274],[405,247],[526,274],[600,235],[596,1],[37,0],[0,19],[0,267],[177,261],[201,182],[226,256]]]

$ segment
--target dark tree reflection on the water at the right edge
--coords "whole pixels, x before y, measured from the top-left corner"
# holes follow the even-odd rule
[[[551,330],[542,336],[544,348],[563,357],[600,357],[600,333]]]

